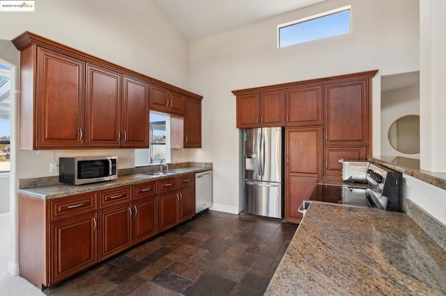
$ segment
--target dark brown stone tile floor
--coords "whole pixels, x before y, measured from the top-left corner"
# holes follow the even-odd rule
[[[298,225],[206,211],[46,295],[263,295]]]

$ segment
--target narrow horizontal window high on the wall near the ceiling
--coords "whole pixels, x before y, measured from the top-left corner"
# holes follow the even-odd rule
[[[345,6],[312,17],[280,24],[277,26],[278,47],[349,33],[351,30],[350,13],[350,6]]]

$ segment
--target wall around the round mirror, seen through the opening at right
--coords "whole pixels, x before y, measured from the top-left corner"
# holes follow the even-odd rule
[[[394,149],[387,137],[392,123],[399,117],[420,115],[420,84],[390,90],[381,94],[381,153],[384,156],[420,158],[420,154],[405,154]]]

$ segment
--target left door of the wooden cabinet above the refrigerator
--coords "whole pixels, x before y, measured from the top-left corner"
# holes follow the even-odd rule
[[[237,97],[237,127],[249,128],[261,126],[259,120],[259,94],[246,94]]]

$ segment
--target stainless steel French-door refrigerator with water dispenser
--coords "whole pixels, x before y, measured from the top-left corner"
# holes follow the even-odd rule
[[[244,129],[245,213],[283,217],[283,130]]]

